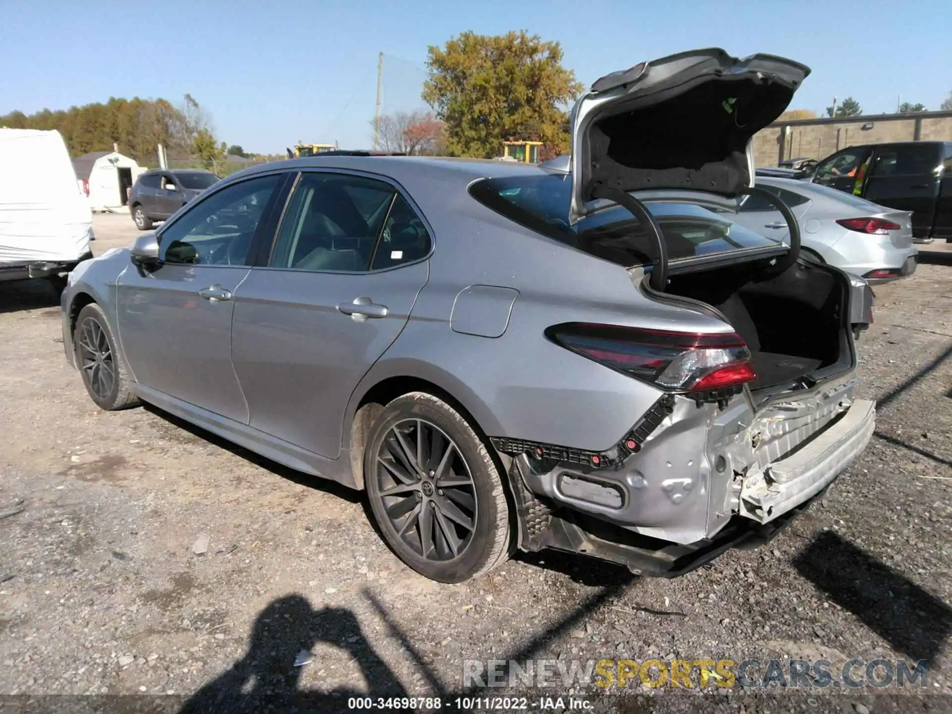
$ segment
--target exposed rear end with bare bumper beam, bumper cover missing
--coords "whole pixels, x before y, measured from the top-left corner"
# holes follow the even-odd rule
[[[846,375],[796,400],[722,409],[679,398],[611,468],[515,455],[519,546],[582,553],[660,577],[773,538],[862,453],[875,404]],[[745,426],[747,425],[747,426]]]

